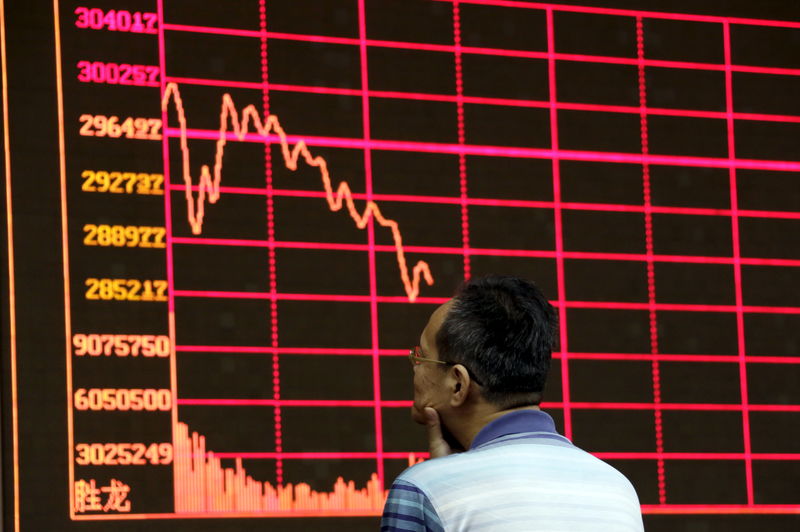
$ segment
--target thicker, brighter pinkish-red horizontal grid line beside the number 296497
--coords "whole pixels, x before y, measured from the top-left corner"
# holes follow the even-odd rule
[[[186,139],[216,139],[239,140],[242,142],[274,142],[274,136],[263,136],[254,133],[244,133],[241,136],[233,132],[214,132],[202,129],[175,129],[166,128],[170,137]],[[467,155],[487,155],[492,157],[519,157],[530,159],[558,159],[568,161],[594,161],[642,164],[664,166],[691,166],[699,168],[743,168],[747,170],[775,170],[775,171],[800,171],[800,161],[772,161],[761,159],[728,159],[717,157],[693,157],[686,155],[647,155],[639,153],[598,152],[586,150],[552,150],[547,148],[517,148],[511,146],[481,146],[473,144],[414,142],[397,140],[371,139],[365,141],[361,138],[315,137],[315,136],[285,136],[287,142],[303,142],[303,146],[323,146],[330,148],[354,148],[390,151],[414,151],[425,153],[464,153]],[[296,151],[296,150],[295,150]]]

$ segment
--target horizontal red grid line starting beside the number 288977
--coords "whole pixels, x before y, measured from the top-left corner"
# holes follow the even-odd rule
[[[195,238],[195,237],[175,237],[176,244],[207,245],[207,246],[250,246],[284,249],[325,249],[332,251],[367,251],[369,248],[364,244],[333,243],[333,242],[292,242],[281,241],[269,242],[267,240],[246,240],[236,238]],[[403,246],[408,252],[458,255],[463,253],[460,247],[444,246]],[[375,251],[394,252],[393,246],[376,245]],[[489,248],[470,248],[470,255],[485,255],[495,257],[533,257],[533,258],[555,258],[556,252],[549,250],[531,249],[489,249]],[[647,255],[641,253],[604,253],[589,251],[564,251],[565,259],[586,259],[586,260],[619,260],[619,261],[646,261]],[[733,264],[732,257],[705,257],[702,255],[653,255],[655,262],[681,262],[688,264]],[[800,266],[800,259],[770,259],[756,257],[740,258],[742,264],[749,266]]]

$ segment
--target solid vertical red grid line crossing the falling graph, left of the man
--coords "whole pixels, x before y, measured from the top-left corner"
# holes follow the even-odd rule
[[[367,69],[367,20],[364,6],[365,0],[358,0],[358,38],[359,57],[361,63],[361,119],[364,135],[364,179],[366,181],[367,202],[372,201],[372,150],[369,122],[369,71]],[[375,400],[375,454],[377,456],[378,483],[384,487],[383,472],[383,413],[381,412],[381,359],[378,339],[378,287],[375,272],[375,215],[369,211],[367,239],[369,245],[369,294],[370,294],[370,332],[372,344],[372,380],[373,399]]]

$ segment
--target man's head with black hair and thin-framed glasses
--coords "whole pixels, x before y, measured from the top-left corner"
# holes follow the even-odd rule
[[[496,410],[537,405],[550,369],[557,320],[533,285],[488,276],[461,286],[431,315],[420,337],[414,374],[414,418],[483,401]]]

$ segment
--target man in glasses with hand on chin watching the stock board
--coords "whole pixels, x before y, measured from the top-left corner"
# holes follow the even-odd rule
[[[469,281],[434,311],[409,355],[431,459],[395,480],[382,531],[643,530],[631,483],[538,407],[556,321],[513,277]]]

